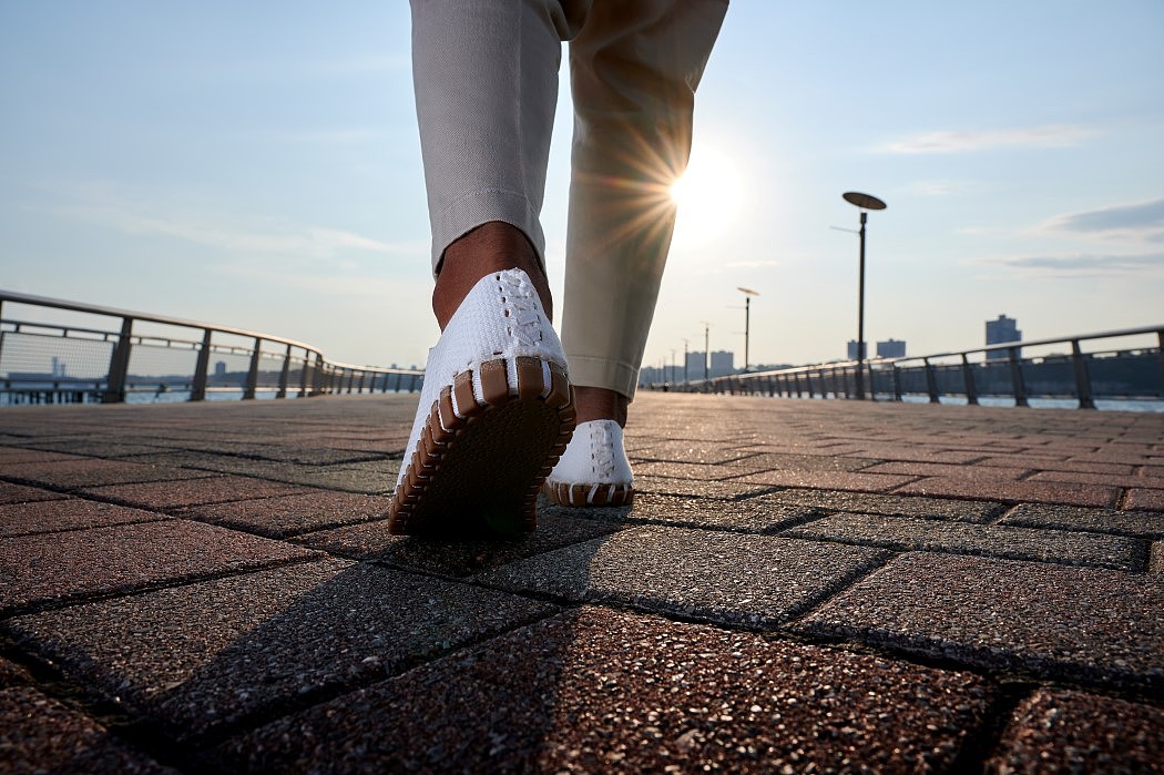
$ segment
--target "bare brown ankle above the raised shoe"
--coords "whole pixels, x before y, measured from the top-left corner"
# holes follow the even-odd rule
[[[477,280],[506,269],[520,269],[530,276],[546,317],[553,320],[549,282],[528,237],[511,223],[490,221],[445,249],[433,287],[433,313],[441,330]]]

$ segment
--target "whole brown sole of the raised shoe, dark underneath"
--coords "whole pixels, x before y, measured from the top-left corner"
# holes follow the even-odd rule
[[[392,495],[389,533],[456,539],[537,527],[538,491],[574,433],[574,394],[555,363],[518,357],[516,367],[511,385],[504,358],[481,364],[482,401],[471,370],[441,390]]]

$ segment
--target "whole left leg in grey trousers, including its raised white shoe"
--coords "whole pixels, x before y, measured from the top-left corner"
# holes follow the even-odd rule
[[[397,479],[392,532],[532,529],[538,486],[573,429],[538,213],[561,40],[580,8],[412,3],[442,335]]]

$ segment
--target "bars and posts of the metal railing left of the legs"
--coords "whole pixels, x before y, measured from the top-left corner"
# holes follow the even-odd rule
[[[116,330],[100,330],[81,326],[71,326],[54,322],[35,322],[29,320],[5,320],[2,317],[5,303],[20,304],[27,306],[45,307],[51,310],[63,310],[68,312],[79,312],[88,315],[120,319]],[[134,332],[137,322],[158,323],[176,328],[194,329],[196,334],[191,339],[177,339],[155,334],[141,334]],[[207,390],[213,390],[210,382],[210,356],[211,353],[229,353],[234,355],[248,356],[249,363],[246,370],[246,378],[241,386],[242,398],[255,398],[260,390],[277,390],[277,398],[285,398],[290,393],[299,396],[315,396],[320,393],[340,392],[375,392],[378,390],[400,391],[407,389],[409,392],[419,389],[424,371],[418,369],[396,369],[379,367],[360,367],[349,363],[328,361],[320,350],[311,344],[299,342],[283,336],[274,336],[261,332],[206,323],[170,315],[158,315],[152,313],[119,310],[100,305],[81,304],[64,299],[51,299],[29,293],[17,293],[14,291],[0,290],[0,325],[9,326],[5,330],[0,327],[0,355],[3,354],[3,343],[7,335],[27,334],[29,336],[43,336],[47,339],[61,339],[72,342],[101,342],[112,346],[109,362],[106,372],[95,378],[57,378],[52,375],[51,389],[29,386],[28,384],[13,384],[12,370],[8,375],[0,375],[0,393],[34,394],[44,400],[84,400],[85,396],[97,393],[102,403],[125,401],[126,394],[132,390],[129,384],[129,364],[135,347],[164,347],[171,348],[180,344],[182,349],[197,353],[193,375],[184,383],[190,391],[190,400],[204,400]],[[26,332],[24,328],[37,329]],[[57,334],[48,332],[59,332]],[[99,335],[100,340],[92,340],[78,336],[70,336],[70,333],[85,333]],[[241,343],[218,343],[215,335],[225,335],[253,340],[249,347]],[[274,349],[271,346],[275,346]],[[265,348],[265,351],[264,351]],[[282,351],[279,351],[282,350]],[[277,385],[260,385],[261,369],[263,360],[282,361],[278,368]],[[296,364],[298,372],[298,385],[291,384],[291,367]],[[274,374],[274,372],[265,372]],[[396,377],[395,388],[390,385],[390,377]],[[405,385],[405,378],[407,384]],[[65,386],[62,386],[62,383]],[[78,390],[79,384],[93,384],[87,391]],[[68,397],[66,397],[68,396]],[[80,396],[80,398],[77,398]]]

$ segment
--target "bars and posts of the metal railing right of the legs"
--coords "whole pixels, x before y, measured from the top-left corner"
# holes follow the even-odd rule
[[[1156,369],[1158,386],[1155,392],[1150,393],[1152,397],[1164,397],[1164,325],[1161,326],[1144,326],[1138,328],[1123,328],[1116,330],[1098,332],[1093,334],[1080,334],[1076,336],[1064,336],[1057,339],[1038,339],[1021,342],[1003,342],[999,344],[987,344],[984,347],[975,347],[966,350],[952,350],[947,353],[936,353],[930,355],[911,355],[901,356],[895,358],[873,358],[865,360],[863,362],[858,361],[836,361],[832,363],[819,363],[814,365],[794,367],[788,369],[773,369],[768,371],[747,371],[734,375],[725,375],[719,377],[712,377],[710,379],[696,379],[677,385],[667,385],[668,390],[677,390],[683,392],[731,392],[731,393],[768,393],[768,394],[781,394],[781,396],[803,396],[805,390],[809,396],[821,394],[826,397],[829,394],[833,397],[850,398],[854,393],[859,396],[861,391],[850,390],[849,382],[853,379],[856,382],[857,369],[861,368],[868,371],[868,384],[874,385],[875,372],[886,374],[888,372],[893,388],[892,392],[894,400],[901,400],[903,390],[901,388],[901,376],[907,372],[916,372],[918,370],[924,372],[925,377],[925,393],[929,394],[931,403],[939,403],[943,394],[958,394],[965,396],[968,404],[977,404],[980,390],[975,385],[974,367],[979,365],[992,365],[999,364],[1006,365],[1009,369],[1009,386],[1010,394],[1014,397],[1015,404],[1018,406],[1029,406],[1029,393],[1027,388],[1027,377],[1024,375],[1023,364],[1025,363],[1028,368],[1031,367],[1034,360],[1023,361],[1021,357],[1021,351],[1027,348],[1034,347],[1048,347],[1053,344],[1069,344],[1070,353],[1062,354],[1062,357],[1070,360],[1072,365],[1072,384],[1067,386],[1067,391],[1079,401],[1080,408],[1095,408],[1095,390],[1092,384],[1091,370],[1088,369],[1088,355],[1083,351],[1080,342],[1088,342],[1095,340],[1105,339],[1116,339],[1124,336],[1142,336],[1148,334],[1155,334],[1157,339],[1156,348],[1138,348],[1143,351],[1156,350],[1156,361],[1158,368]],[[1006,358],[989,358],[987,357],[982,363],[971,363],[970,356],[977,354],[989,354],[989,353],[1005,353]],[[1060,355],[1060,354],[1055,354]],[[943,391],[938,384],[938,369],[951,369],[952,367],[936,365],[934,361],[942,358],[960,358],[960,363],[957,364],[957,369],[961,374],[963,389],[960,391]],[[1044,358],[1045,362],[1045,358]],[[904,365],[908,363],[917,363],[918,365]],[[814,385],[814,379],[816,385]],[[802,381],[804,384],[802,384]],[[872,394],[873,391],[871,391]],[[921,391],[911,391],[921,392]]]

